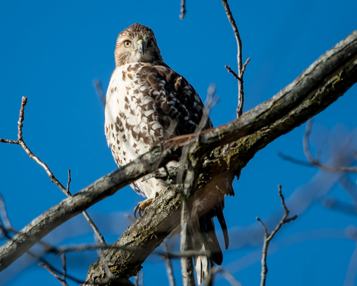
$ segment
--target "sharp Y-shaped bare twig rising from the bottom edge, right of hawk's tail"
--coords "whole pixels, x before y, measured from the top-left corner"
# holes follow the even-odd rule
[[[271,232],[268,233],[268,229],[265,226],[265,224],[263,223],[263,221],[257,217],[257,221],[259,221],[261,223],[261,225],[264,227],[264,242],[263,242],[263,255],[262,255],[262,271],[261,271],[261,280],[260,280],[260,286],[265,286],[265,282],[266,282],[266,275],[268,273],[268,268],[267,268],[267,252],[268,252],[268,246],[269,246],[269,242],[273,239],[273,237],[276,235],[276,233],[280,230],[281,226],[284,223],[288,223],[291,222],[293,220],[296,220],[297,215],[288,218],[288,215],[290,213],[290,211],[288,210],[285,201],[284,201],[284,196],[281,193],[281,185],[278,185],[278,193],[279,193],[279,197],[281,199],[281,204],[284,207],[285,210],[285,214],[283,215],[282,219],[278,222],[278,224],[276,225],[275,229]]]

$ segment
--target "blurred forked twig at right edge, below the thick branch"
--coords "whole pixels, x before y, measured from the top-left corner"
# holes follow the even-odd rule
[[[309,146],[309,137],[310,137],[310,134],[311,134],[311,127],[312,127],[312,124],[313,124],[313,120],[309,120],[306,124],[306,131],[304,133],[304,136],[303,136],[303,150],[304,150],[304,153],[305,153],[305,156],[308,160],[308,162],[306,161],[302,161],[302,160],[299,160],[299,159],[295,159],[293,157],[290,157],[290,156],[286,156],[285,154],[283,153],[278,153],[278,156],[280,158],[282,158],[283,160],[286,160],[286,161],[290,161],[294,164],[298,164],[298,165],[302,165],[302,166],[307,166],[307,167],[317,167],[323,171],[326,171],[326,172],[330,172],[330,173],[333,173],[333,172],[347,172],[347,173],[357,173],[357,167],[340,167],[340,166],[336,166],[336,167],[331,167],[331,166],[326,166],[324,164],[322,164],[320,162],[320,159],[319,159],[319,154],[317,154],[316,158],[314,158],[310,152],[310,146]],[[352,150],[353,152],[353,150]]]

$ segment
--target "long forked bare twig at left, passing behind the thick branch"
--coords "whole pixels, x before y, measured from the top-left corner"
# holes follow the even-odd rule
[[[8,139],[1,139],[0,138],[0,142],[3,143],[13,143],[13,144],[17,144],[20,145],[22,147],[22,149],[25,150],[26,154],[29,155],[29,157],[31,159],[34,159],[37,164],[39,164],[42,168],[45,169],[47,175],[50,177],[50,180],[56,184],[57,187],[59,187],[59,189],[67,196],[67,197],[71,197],[71,193],[69,191],[69,183],[71,182],[71,171],[68,170],[68,183],[67,183],[67,188],[65,188],[60,181],[57,180],[57,178],[55,177],[55,175],[52,173],[52,171],[50,170],[50,168],[47,166],[46,163],[42,162],[40,160],[39,157],[37,157],[34,153],[32,153],[32,151],[30,150],[29,147],[27,147],[24,139],[22,138],[22,127],[24,126],[23,122],[25,120],[24,118],[24,112],[25,112],[25,105],[27,103],[27,97],[22,97],[22,101],[21,101],[21,108],[20,108],[20,115],[19,115],[19,121],[17,122],[17,129],[18,129],[18,133],[17,133],[17,140],[8,140]],[[86,211],[82,212],[84,217],[86,218],[86,220],[88,221],[89,225],[92,227],[95,235],[98,237],[98,239],[100,240],[101,244],[105,244],[105,240],[104,237],[102,236],[102,234],[100,233],[99,229],[97,228],[97,226],[95,225],[95,223],[92,221],[92,219],[90,218],[90,216],[88,215],[88,213]]]

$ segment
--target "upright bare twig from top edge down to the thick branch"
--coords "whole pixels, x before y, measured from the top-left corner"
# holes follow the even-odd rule
[[[244,92],[243,92],[243,74],[246,69],[247,64],[251,60],[248,58],[243,66],[242,63],[242,41],[239,35],[239,31],[237,28],[236,21],[233,18],[232,12],[229,8],[228,1],[222,0],[223,7],[226,10],[226,14],[228,17],[228,21],[233,28],[234,35],[237,41],[237,62],[238,62],[238,75],[229,67],[225,66],[228,72],[230,72],[236,79],[238,79],[238,108],[237,108],[237,118],[239,118],[243,114],[243,103],[244,103]]]

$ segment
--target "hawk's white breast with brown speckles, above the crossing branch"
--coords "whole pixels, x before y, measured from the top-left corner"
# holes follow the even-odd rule
[[[163,135],[149,87],[137,77],[141,68],[140,64],[116,68],[107,90],[105,133],[119,166],[149,151]]]

